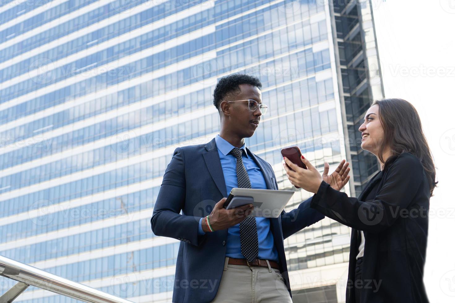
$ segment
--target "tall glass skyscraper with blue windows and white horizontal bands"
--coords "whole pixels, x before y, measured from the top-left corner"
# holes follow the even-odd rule
[[[154,202],[174,149],[218,134],[213,89],[236,72],[263,83],[268,113],[246,144],[296,191],[287,210],[310,195],[288,182],[283,147],[321,170],[348,159],[351,195],[378,169],[357,134],[383,96],[369,1],[0,5],[0,255],[170,302],[180,241],[154,236]],[[294,302],[344,302],[349,233],[326,218],[284,241]],[[29,287],[15,302],[76,300]]]

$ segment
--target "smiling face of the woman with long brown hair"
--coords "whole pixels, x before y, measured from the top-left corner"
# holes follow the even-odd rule
[[[378,155],[379,147],[384,140],[384,128],[379,119],[379,105],[371,106],[364,118],[364,123],[360,125],[359,131],[362,133],[362,149]]]

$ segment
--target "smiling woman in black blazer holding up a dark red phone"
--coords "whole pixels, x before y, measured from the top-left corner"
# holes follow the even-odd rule
[[[381,164],[359,198],[336,190],[344,184],[329,186],[307,159],[308,169],[284,159],[288,179],[314,193],[313,209],[352,227],[347,303],[429,302],[423,269],[437,182],[419,115],[403,99],[378,100],[359,131],[362,149]]]

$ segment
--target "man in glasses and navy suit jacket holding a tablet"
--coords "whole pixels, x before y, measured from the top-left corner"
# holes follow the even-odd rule
[[[267,109],[261,87],[249,75],[220,79],[220,134],[177,148],[166,169],[151,223],[157,236],[182,241],[172,302],[292,302],[283,239],[324,215],[311,198],[276,219],[247,217],[251,205],[222,207],[234,187],[278,189],[270,164],[244,142]]]

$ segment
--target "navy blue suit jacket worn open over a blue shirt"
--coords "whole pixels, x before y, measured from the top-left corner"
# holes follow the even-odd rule
[[[261,169],[268,189],[278,189],[270,164],[247,149]],[[227,197],[215,139],[207,144],[177,148],[167,166],[153,210],[152,231],[180,241],[172,302],[211,302],[217,294],[226,257],[227,229],[197,233],[199,219]],[[280,271],[288,287],[283,239],[318,222],[324,215],[310,208],[311,198],[297,209],[270,219]],[[182,212],[182,214],[180,214]]]

